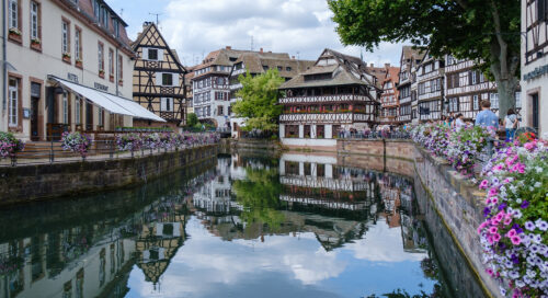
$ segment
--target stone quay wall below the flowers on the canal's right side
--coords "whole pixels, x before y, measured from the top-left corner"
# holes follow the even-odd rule
[[[429,204],[420,206],[421,213],[436,214],[460,253],[454,259],[461,261],[454,264],[455,271],[467,266],[479,288],[475,288],[473,280],[454,282],[461,287],[475,288],[472,291],[482,294],[478,297],[500,297],[498,284],[483,270],[477,233],[477,227],[483,221],[484,192],[453,170],[445,160],[433,157],[411,140],[339,140],[338,150],[343,164],[414,179],[415,185],[422,186],[415,187],[420,190],[418,194],[425,195],[429,200]],[[434,227],[432,233],[439,236],[439,227]],[[443,248],[437,249],[441,250]]]

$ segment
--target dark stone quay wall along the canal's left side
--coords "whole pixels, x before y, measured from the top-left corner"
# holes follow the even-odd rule
[[[218,151],[218,145],[208,145],[135,158],[0,168],[0,206],[146,183]]]

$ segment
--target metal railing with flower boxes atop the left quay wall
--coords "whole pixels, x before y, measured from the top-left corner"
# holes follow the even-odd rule
[[[53,164],[53,163],[70,163],[82,161],[99,161],[99,160],[115,160],[115,159],[130,159],[145,156],[163,154],[167,152],[175,152],[179,150],[196,148],[202,146],[212,145],[213,142],[194,142],[189,145],[181,145],[179,147],[170,148],[141,148],[136,151],[122,151],[118,150],[116,145],[116,136],[101,136],[105,134],[96,131],[96,135],[91,141],[91,146],[85,154],[82,157],[78,152],[72,152],[62,148],[61,141],[37,141],[27,142],[23,151],[16,152],[14,156],[0,159],[0,168],[2,167],[18,167],[18,165],[33,165],[33,164]],[[116,133],[123,134],[123,133]]]

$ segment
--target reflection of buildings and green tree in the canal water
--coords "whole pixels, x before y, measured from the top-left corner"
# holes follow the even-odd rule
[[[363,239],[381,219],[401,229],[406,252],[426,252],[404,177],[302,153],[225,156],[216,164],[184,183],[144,186],[130,195],[141,197],[133,210],[67,224],[65,207],[48,215],[62,225],[0,238],[0,296],[124,297],[134,265],[160,289],[191,217],[226,241],[310,232],[326,251]]]

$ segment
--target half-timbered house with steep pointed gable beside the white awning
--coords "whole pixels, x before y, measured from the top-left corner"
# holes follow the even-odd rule
[[[168,122],[173,128],[185,124],[185,73],[176,51],[168,45],[155,23],[145,22],[133,43],[138,58],[134,68],[134,101]],[[136,126],[155,125],[140,122]],[[164,125],[164,124],[162,124]]]

